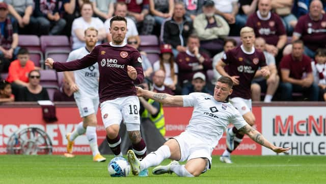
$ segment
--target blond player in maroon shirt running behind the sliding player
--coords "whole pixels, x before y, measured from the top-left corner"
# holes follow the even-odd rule
[[[251,82],[256,74],[257,69],[261,68],[261,74],[268,77],[270,72],[263,52],[256,50],[254,45],[255,33],[250,27],[244,27],[240,31],[241,46],[227,51],[223,58],[216,65],[216,70],[223,75],[229,76],[233,81],[233,93],[230,95],[230,102],[240,112],[244,120],[253,126],[255,124],[255,116],[251,112]],[[228,72],[224,67],[228,65]],[[235,127],[228,128],[227,149],[220,157],[220,161],[231,164],[231,152],[241,143],[243,133],[239,132]]]

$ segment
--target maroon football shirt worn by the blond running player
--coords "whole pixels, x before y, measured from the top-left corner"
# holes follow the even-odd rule
[[[239,85],[233,86],[231,98],[241,97],[251,99],[251,81],[259,67],[266,66],[263,52],[253,48],[251,53],[244,52],[241,46],[227,51],[222,61],[228,65],[230,76],[238,75]]]

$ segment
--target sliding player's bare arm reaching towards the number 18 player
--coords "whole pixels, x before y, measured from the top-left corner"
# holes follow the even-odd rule
[[[152,91],[144,90],[140,87],[135,87],[137,90],[137,96],[143,96],[145,98],[151,98],[155,101],[164,103],[168,106],[181,106],[183,107],[182,96],[173,96],[166,93],[155,93]]]

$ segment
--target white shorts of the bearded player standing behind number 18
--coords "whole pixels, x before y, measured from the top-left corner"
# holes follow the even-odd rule
[[[82,97],[76,98],[75,101],[79,110],[80,117],[84,118],[91,114],[97,114],[99,98]]]

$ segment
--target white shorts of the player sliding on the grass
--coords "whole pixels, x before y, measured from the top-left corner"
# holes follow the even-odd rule
[[[212,164],[211,154],[213,149],[207,144],[205,144],[205,142],[186,132],[183,132],[179,136],[174,137],[172,139],[175,139],[179,143],[181,152],[181,162],[197,158],[206,158],[209,162],[207,162],[206,168],[203,173],[207,169],[210,169],[210,166]]]

